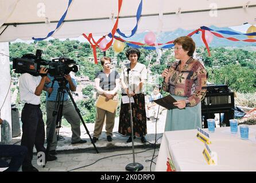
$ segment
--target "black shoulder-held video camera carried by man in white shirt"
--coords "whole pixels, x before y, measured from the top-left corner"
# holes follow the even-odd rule
[[[49,61],[41,58],[42,50],[36,50],[36,55],[25,54],[21,58],[13,59],[13,69],[15,73],[29,73],[34,76],[40,75],[41,65],[48,65]]]

